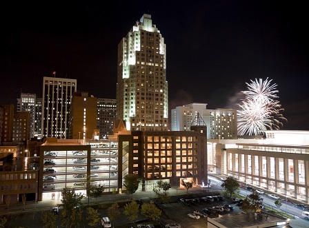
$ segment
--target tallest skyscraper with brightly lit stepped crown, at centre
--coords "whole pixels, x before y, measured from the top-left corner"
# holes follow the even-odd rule
[[[168,130],[166,44],[150,14],[118,45],[117,119],[128,130]]]

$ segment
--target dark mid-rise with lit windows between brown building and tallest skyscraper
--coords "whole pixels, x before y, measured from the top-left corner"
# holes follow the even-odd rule
[[[100,138],[106,138],[108,135],[113,134],[116,107],[116,99],[98,99],[97,129],[100,131]]]

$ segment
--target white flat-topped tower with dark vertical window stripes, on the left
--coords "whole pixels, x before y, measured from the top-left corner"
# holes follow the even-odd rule
[[[76,79],[43,77],[42,137],[66,138]]]

